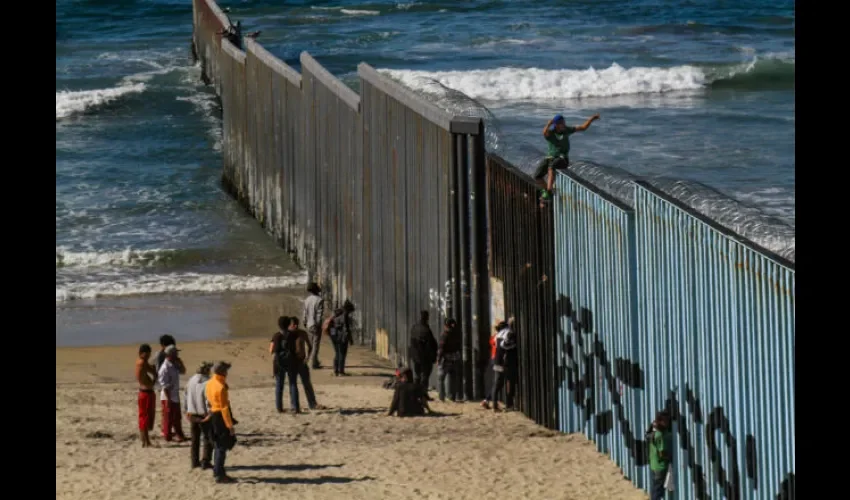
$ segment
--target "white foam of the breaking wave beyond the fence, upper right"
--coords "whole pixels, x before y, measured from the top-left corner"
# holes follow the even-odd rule
[[[597,70],[496,68],[473,71],[381,70],[402,84],[429,92],[428,79],[484,100],[545,100],[658,94],[697,90],[707,83],[696,66],[623,68],[612,64]]]

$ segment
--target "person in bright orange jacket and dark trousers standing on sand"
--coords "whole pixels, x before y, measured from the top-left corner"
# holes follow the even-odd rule
[[[230,363],[219,361],[213,366],[213,376],[207,382],[204,395],[210,407],[210,431],[215,451],[213,452],[213,476],[217,483],[232,483],[233,478],[224,470],[227,452],[236,444],[236,429],[230,412],[230,393],[227,375]]]

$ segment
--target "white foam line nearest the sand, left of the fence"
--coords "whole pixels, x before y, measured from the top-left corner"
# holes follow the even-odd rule
[[[111,280],[56,285],[56,302],[98,297],[125,297],[164,293],[208,294],[226,291],[271,290],[303,285],[307,274],[238,276],[234,274],[144,274],[115,276]]]

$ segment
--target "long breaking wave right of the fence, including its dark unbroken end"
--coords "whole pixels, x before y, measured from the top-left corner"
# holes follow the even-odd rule
[[[486,101],[537,101],[664,94],[708,88],[763,88],[794,84],[793,59],[754,58],[746,64],[548,70],[502,67],[471,71],[380,70],[403,85],[429,93],[433,82]]]

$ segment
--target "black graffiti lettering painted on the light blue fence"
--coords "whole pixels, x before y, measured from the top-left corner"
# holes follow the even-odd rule
[[[558,299],[559,311],[561,316],[570,318],[572,326],[572,335],[564,335],[563,351],[567,358],[567,366],[564,373],[566,380],[561,380],[560,385],[566,382],[567,388],[573,393],[573,403],[583,410],[584,420],[589,422],[591,418],[595,419],[595,432],[599,435],[606,435],[611,432],[614,425],[614,413],[616,413],[617,421],[620,424],[620,432],[623,437],[623,442],[629,450],[631,458],[635,461],[638,467],[648,465],[648,444],[643,439],[635,437],[632,431],[632,425],[626,418],[625,409],[623,407],[620,391],[617,387],[617,381],[632,388],[643,389],[644,373],[640,369],[638,363],[624,358],[616,358],[612,371],[611,363],[608,359],[607,350],[604,343],[600,340],[598,334],[593,336],[593,349],[590,353],[586,353],[585,341],[583,334],[590,333],[585,329],[586,325],[591,324],[592,313],[585,308],[581,308],[579,313],[582,316],[582,321],[575,318],[572,314],[572,302],[568,297],[561,295]],[[566,307],[565,307],[566,306]],[[587,311],[587,312],[583,312]],[[569,314],[566,314],[569,313]],[[587,321],[587,323],[585,323]],[[565,332],[561,332],[565,333]],[[577,344],[578,352],[580,353],[583,363],[583,370],[580,370],[575,363],[577,359],[575,345]],[[605,410],[596,413],[596,377],[593,368],[593,361],[596,358],[599,368],[604,375],[605,385],[608,393],[611,396],[613,404],[612,410]],[[696,397],[694,391],[688,386],[685,386],[685,405],[687,407],[687,416],[693,419],[695,423],[703,422],[702,408],[699,398]],[[676,398],[676,393],[670,391],[668,398],[665,401],[664,408],[670,412],[671,418],[678,424],[679,445],[680,448],[687,451],[687,466],[691,471],[691,481],[694,485],[694,496],[699,500],[708,499],[708,485],[706,483],[706,474],[702,465],[696,463],[696,450],[692,441],[693,433],[688,428],[688,419],[684,412],[681,411],[681,403]],[[729,419],[726,417],[723,407],[714,407],[708,416],[708,422],[705,429],[705,442],[708,447],[708,456],[712,462],[712,470],[714,471],[715,480],[718,486],[724,492],[725,498],[737,499],[740,498],[741,478],[740,467],[737,455],[737,440],[732,435]],[[716,435],[720,431],[723,436],[723,448],[718,446]],[[756,441],[752,435],[746,437],[746,468],[747,475],[752,479],[756,479],[757,462],[755,456]],[[727,453],[730,457],[729,471],[723,467],[721,462],[722,453]],[[755,488],[755,482],[754,482]],[[780,485],[780,493],[777,498],[790,499],[794,493],[794,474],[789,473],[786,479]]]

